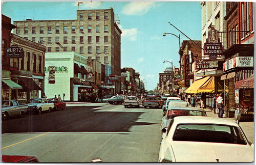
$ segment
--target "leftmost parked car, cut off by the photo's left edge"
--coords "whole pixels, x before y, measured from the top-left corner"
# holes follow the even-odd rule
[[[2,101],[2,119],[8,119],[12,116],[22,116],[28,112],[28,105],[19,105],[16,100]]]

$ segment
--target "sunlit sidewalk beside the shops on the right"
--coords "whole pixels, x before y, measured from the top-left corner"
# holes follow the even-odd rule
[[[218,114],[214,114],[214,111],[211,111],[208,108],[206,108],[205,111],[208,117],[218,118]],[[223,118],[227,118],[227,117],[224,116]],[[230,119],[234,120],[234,118],[230,118]],[[254,144],[254,122],[240,122],[239,125],[243,129],[248,141]]]

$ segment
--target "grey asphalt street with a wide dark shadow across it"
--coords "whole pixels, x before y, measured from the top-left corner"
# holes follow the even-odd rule
[[[2,154],[40,162],[157,162],[161,118],[160,108],[69,104],[3,121]]]

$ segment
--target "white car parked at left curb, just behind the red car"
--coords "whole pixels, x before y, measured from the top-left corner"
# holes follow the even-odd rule
[[[41,114],[42,111],[51,112],[53,108],[53,102],[48,102],[45,98],[36,98],[31,99],[31,103],[28,105],[28,112]]]

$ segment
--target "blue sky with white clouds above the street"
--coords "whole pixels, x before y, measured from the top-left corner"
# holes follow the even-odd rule
[[[3,2],[2,14],[11,20],[66,20],[76,19],[77,2]],[[201,40],[201,6],[193,1],[132,1],[83,2],[79,9],[109,9],[112,7],[120,20],[121,67],[132,67],[145,79],[146,89],[154,90],[158,75],[173,61],[179,67],[179,40],[188,40],[168,22],[190,39]]]

